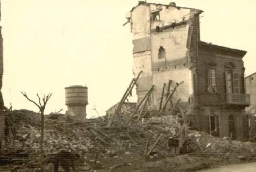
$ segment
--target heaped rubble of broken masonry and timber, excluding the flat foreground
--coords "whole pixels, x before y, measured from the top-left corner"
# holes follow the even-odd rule
[[[52,155],[60,149],[76,152],[81,157],[86,157],[91,153],[94,161],[95,154],[99,154],[100,161],[109,163],[108,158],[119,157],[122,159],[121,152],[138,153],[139,155],[166,158],[169,137],[177,134],[180,128],[177,115],[155,114],[150,118],[140,120],[114,121],[108,126],[109,119],[100,117],[80,121],[73,117],[65,118],[64,115],[45,117],[45,155]],[[38,164],[40,154],[40,115],[31,111],[10,111],[7,114],[9,123],[9,135],[4,147],[5,155],[12,158],[17,156],[25,157],[12,161],[24,164],[29,161],[31,164]],[[215,156],[223,158],[243,158],[256,152],[256,145],[250,142],[233,141],[230,138],[216,138],[205,132],[190,130],[189,137],[194,138],[200,146],[200,154],[195,157]],[[7,154],[8,153],[8,154]],[[154,154],[152,154],[154,153]],[[28,157],[34,156],[33,159]],[[6,156],[7,157],[7,156]],[[103,159],[102,159],[103,158]],[[17,159],[16,159],[17,160]],[[10,163],[11,161],[6,161]],[[98,161],[97,161],[98,162]],[[179,164],[179,162],[176,162]],[[108,166],[108,165],[106,165]],[[105,166],[105,167],[106,167]]]

